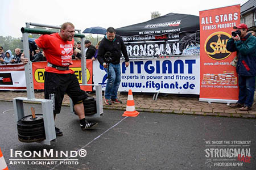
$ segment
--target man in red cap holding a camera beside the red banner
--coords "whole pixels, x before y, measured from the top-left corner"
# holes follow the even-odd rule
[[[238,24],[236,27],[236,37],[232,36],[226,49],[229,52],[237,52],[237,74],[239,96],[236,104],[230,105],[232,108],[240,108],[240,111],[250,111],[253,105],[255,76],[256,76],[256,37],[247,33],[246,24]]]

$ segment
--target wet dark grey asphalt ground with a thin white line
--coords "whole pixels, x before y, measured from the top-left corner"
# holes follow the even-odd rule
[[[40,105],[24,104],[30,114],[34,106],[40,113]],[[56,118],[56,126],[64,135],[57,137],[51,146],[18,141],[13,103],[0,102],[0,147],[9,169],[256,169],[256,121],[251,118],[198,116],[141,112],[138,117],[123,117],[123,111],[104,109],[101,118],[88,118],[98,122],[92,130],[82,131],[77,116],[69,107],[62,107]],[[210,141],[207,145],[206,141]],[[251,141],[246,146],[213,145],[216,141]],[[207,158],[210,148],[250,149],[250,163],[238,162],[237,158]],[[85,157],[64,157],[79,164],[54,165],[10,164],[10,159],[63,159],[35,156],[35,158],[11,157],[13,151],[77,151],[86,150]],[[217,154],[218,155],[218,154]],[[211,159],[211,160],[208,160]],[[214,160],[215,159],[215,160]],[[15,161],[12,161],[13,163]],[[43,160],[41,161],[43,162]],[[225,165],[217,164],[226,163]],[[16,161],[18,163],[18,161]],[[21,163],[21,162],[20,162]],[[32,161],[30,162],[32,163]],[[214,166],[215,163],[215,166]],[[227,163],[243,163],[242,167],[228,167]],[[219,165],[219,167],[216,167]],[[210,167],[209,167],[210,166]]]

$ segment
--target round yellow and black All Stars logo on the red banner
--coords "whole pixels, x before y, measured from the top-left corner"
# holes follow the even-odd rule
[[[207,55],[215,60],[228,58],[231,53],[226,49],[226,42],[230,37],[226,32],[212,33],[204,44],[204,50]]]

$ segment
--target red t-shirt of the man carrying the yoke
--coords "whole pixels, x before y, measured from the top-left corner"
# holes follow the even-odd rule
[[[46,59],[49,63],[61,67],[67,67],[73,64],[72,54],[74,39],[72,39],[72,41],[63,41],[59,33],[52,33],[51,35],[40,36],[35,42],[39,48],[44,50],[44,54],[46,54]],[[46,67],[45,69],[47,72],[58,74],[74,73],[71,69],[65,71],[60,71],[53,67]]]

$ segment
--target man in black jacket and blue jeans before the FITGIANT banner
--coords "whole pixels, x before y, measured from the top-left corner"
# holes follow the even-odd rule
[[[108,68],[108,82],[105,90],[105,103],[112,105],[113,103],[122,103],[117,97],[118,87],[121,83],[121,68],[120,58],[125,57],[125,66],[129,66],[129,58],[126,50],[125,43],[121,39],[121,36],[115,35],[115,29],[109,27],[106,32],[106,36],[101,40],[101,44],[98,47],[98,61],[104,68]],[[110,63],[106,60],[106,57],[112,58]]]

